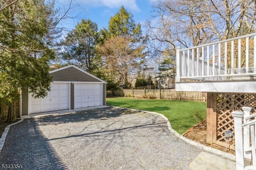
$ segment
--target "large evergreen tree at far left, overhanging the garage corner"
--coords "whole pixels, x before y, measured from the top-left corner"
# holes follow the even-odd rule
[[[11,106],[28,87],[34,97],[50,90],[48,61],[54,58],[54,2],[18,0],[0,2],[0,100]],[[8,113],[8,121],[15,119]]]

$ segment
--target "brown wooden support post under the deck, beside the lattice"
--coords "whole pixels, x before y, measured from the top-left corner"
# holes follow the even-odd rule
[[[206,143],[213,144],[217,140],[217,93],[207,93],[207,130]]]

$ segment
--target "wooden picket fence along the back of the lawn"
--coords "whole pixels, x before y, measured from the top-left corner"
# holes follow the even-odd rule
[[[175,89],[123,89],[116,91],[107,91],[106,95],[116,95],[124,97],[143,97],[150,99],[171,99],[204,102],[206,101],[206,93],[194,91],[175,91]]]

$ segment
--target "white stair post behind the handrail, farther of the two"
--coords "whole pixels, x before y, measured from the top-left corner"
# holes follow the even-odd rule
[[[246,123],[246,117],[250,116],[250,111],[252,110],[252,107],[242,107],[242,111],[244,111],[244,123]],[[250,148],[250,127],[244,127],[244,148],[248,149]],[[244,157],[247,159],[252,158],[252,154],[247,154],[244,152]]]

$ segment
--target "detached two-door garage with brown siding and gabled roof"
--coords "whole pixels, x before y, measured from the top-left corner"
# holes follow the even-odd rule
[[[21,114],[73,110],[106,105],[106,82],[86,71],[68,65],[50,71],[51,91],[35,99],[28,89],[22,90]]]

